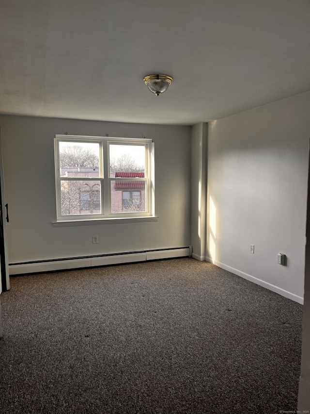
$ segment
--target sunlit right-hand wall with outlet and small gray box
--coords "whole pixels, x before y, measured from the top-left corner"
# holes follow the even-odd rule
[[[310,92],[211,122],[208,132],[208,260],[299,302],[309,135]]]

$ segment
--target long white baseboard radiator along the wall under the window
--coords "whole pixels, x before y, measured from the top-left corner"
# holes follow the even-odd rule
[[[94,256],[80,256],[62,259],[37,260],[31,262],[9,263],[10,275],[27,273],[42,273],[55,270],[68,270],[83,267],[97,267],[107,265],[121,265],[124,263],[147,262],[160,259],[173,259],[191,256],[191,246],[181,248],[166,248],[155,250],[131,251],[110,253]]]

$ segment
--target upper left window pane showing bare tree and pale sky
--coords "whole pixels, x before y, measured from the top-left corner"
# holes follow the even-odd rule
[[[61,177],[99,177],[99,143],[59,143]]]

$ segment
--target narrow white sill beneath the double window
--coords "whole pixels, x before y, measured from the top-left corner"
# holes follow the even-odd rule
[[[113,217],[113,218],[90,218],[89,220],[60,220],[52,221],[53,227],[70,226],[93,226],[98,224],[121,224],[121,223],[145,223],[148,221],[158,221],[158,215],[145,217]]]

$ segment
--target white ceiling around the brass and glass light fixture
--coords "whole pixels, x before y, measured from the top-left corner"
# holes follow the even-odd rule
[[[308,90],[308,0],[0,1],[2,114],[191,125]]]

